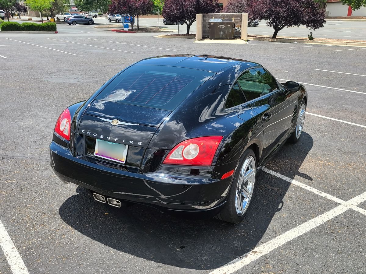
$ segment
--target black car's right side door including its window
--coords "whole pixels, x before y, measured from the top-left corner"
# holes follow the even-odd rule
[[[243,72],[238,84],[262,121],[265,161],[290,134],[294,111],[291,94],[264,68]]]

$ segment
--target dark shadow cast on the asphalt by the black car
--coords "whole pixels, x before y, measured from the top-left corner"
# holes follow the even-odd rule
[[[311,179],[298,170],[312,146],[313,138],[303,132],[297,144],[286,143],[269,165],[286,168],[291,178],[298,175]],[[117,251],[165,265],[211,270],[258,245],[273,216],[283,208],[289,186],[284,180],[259,172],[250,208],[237,225],[214,218],[182,218],[138,204],[113,208],[95,201],[82,187],[61,205],[59,213],[70,227]]]

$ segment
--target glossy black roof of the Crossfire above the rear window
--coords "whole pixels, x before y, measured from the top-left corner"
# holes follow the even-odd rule
[[[238,63],[247,63],[248,68],[252,66],[261,66],[258,63],[247,60],[214,56],[214,55],[165,55],[143,59],[135,65],[161,65],[176,66],[180,68],[201,69],[203,71],[219,72],[225,68]]]

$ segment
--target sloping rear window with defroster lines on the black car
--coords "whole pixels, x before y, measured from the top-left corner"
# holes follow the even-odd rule
[[[214,74],[173,66],[134,65],[96,99],[171,111]]]

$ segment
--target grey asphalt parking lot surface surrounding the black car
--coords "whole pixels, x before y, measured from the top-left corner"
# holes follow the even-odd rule
[[[154,35],[2,34],[0,273],[365,272],[366,48]],[[49,165],[64,108],[132,62],[166,54],[256,61],[309,92],[300,141],[258,174],[238,225],[115,209]]]

